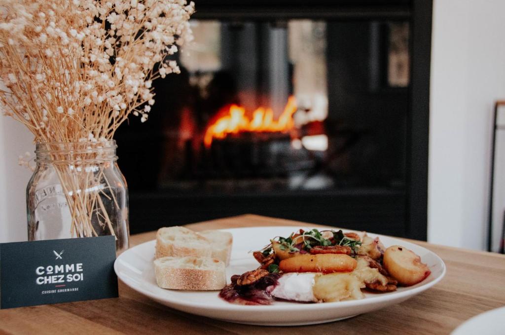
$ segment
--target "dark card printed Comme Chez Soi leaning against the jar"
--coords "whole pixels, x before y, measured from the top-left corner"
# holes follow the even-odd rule
[[[0,244],[0,308],[118,297],[114,236]]]

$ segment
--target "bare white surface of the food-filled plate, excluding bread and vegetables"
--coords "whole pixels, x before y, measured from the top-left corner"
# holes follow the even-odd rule
[[[299,228],[314,227],[223,229],[233,234],[231,262],[226,268],[228,282],[232,274],[241,274],[258,267],[258,262],[249,253],[250,251],[260,250],[274,236],[288,236]],[[214,319],[259,325],[302,325],[345,319],[412,298],[429,289],[444,276],[445,264],[431,251],[396,238],[371,233],[369,235],[379,236],[386,247],[401,245],[411,249],[421,256],[421,260],[429,266],[431,274],[421,283],[409,288],[398,288],[395,292],[383,294],[365,293],[366,298],[362,300],[321,304],[274,302],[267,306],[243,306],[220,299],[218,291],[160,289],[156,284],[153,267],[155,241],[143,243],[122,253],[114,263],[114,270],[130,288],[163,305]]]

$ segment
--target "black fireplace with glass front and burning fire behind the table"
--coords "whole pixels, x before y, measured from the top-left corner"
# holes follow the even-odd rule
[[[244,213],[426,238],[431,3],[197,3],[117,133],[130,230]]]

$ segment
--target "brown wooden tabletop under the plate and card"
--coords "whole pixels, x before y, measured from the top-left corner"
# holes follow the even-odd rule
[[[216,229],[309,224],[243,215],[188,225]],[[131,246],[153,240],[155,232],[131,236]],[[297,327],[262,327],[216,321],[155,303],[124,283],[119,296],[0,311],[0,333],[166,333],[190,334],[448,334],[463,321],[505,305],[505,256],[415,243],[438,254],[447,265],[445,278],[426,292],[398,305],[337,322]]]

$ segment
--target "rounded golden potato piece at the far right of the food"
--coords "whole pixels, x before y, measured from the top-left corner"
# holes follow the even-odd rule
[[[382,263],[387,272],[403,286],[417,284],[431,273],[428,266],[421,262],[421,257],[400,246],[387,248]]]

